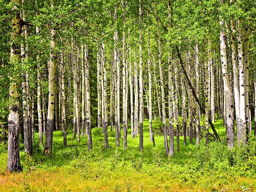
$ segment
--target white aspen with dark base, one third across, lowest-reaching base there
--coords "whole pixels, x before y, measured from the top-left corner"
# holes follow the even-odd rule
[[[89,82],[89,56],[88,45],[84,45],[84,64],[85,64],[85,90],[86,90],[86,130],[88,152],[92,149],[92,126],[91,126],[91,104],[90,104],[90,82]]]

